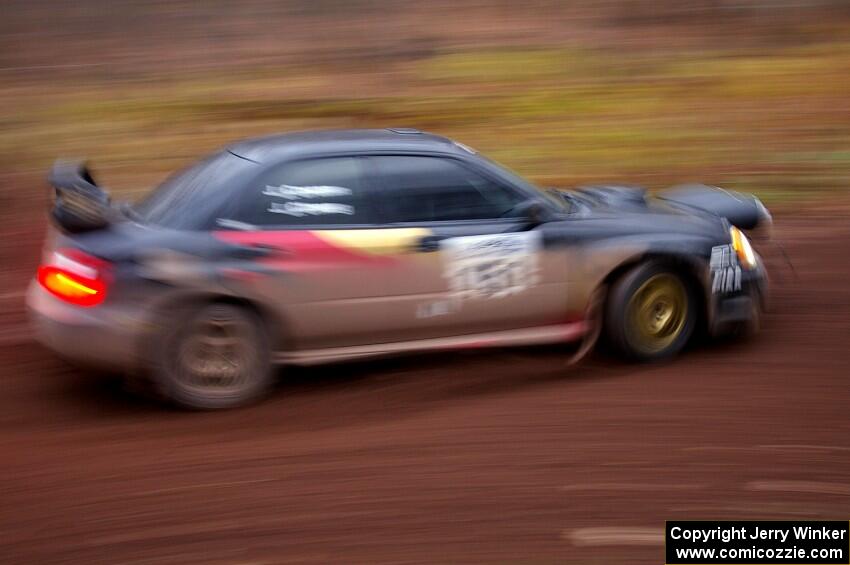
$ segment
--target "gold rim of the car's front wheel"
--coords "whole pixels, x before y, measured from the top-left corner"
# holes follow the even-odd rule
[[[675,275],[654,275],[632,294],[627,312],[635,345],[651,353],[662,351],[676,341],[685,327],[685,285]]]

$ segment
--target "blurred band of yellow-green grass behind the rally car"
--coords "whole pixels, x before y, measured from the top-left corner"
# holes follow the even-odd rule
[[[0,87],[0,163],[87,156],[121,193],[231,140],[412,126],[542,185],[699,180],[771,200],[846,192],[850,44],[770,52],[475,49],[381,68],[281,67]],[[9,188],[4,188],[9,190]]]

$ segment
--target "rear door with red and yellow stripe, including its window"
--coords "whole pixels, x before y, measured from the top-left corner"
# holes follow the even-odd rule
[[[281,163],[250,181],[217,236],[259,248],[251,289],[285,321],[287,347],[313,350],[391,340],[384,328],[394,257],[425,230],[375,225],[364,159]]]

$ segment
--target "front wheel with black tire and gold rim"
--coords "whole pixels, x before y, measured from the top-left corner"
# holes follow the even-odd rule
[[[642,263],[611,287],[604,332],[619,355],[635,361],[663,361],[687,345],[697,325],[693,285],[669,265]]]

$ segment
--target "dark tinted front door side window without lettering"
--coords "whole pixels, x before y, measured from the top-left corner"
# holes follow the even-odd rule
[[[454,159],[371,157],[384,187],[381,206],[390,222],[441,222],[505,217],[524,200]]]

